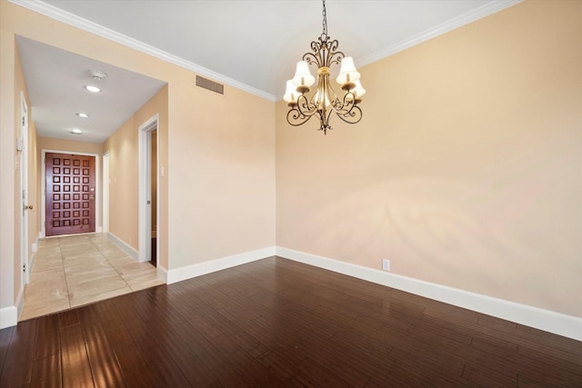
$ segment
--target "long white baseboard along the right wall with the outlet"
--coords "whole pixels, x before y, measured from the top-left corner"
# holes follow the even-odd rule
[[[280,246],[276,247],[276,255],[582,341],[582,318],[576,316],[556,313],[527,304],[509,302],[480,293],[470,293],[446,285],[390,274]]]

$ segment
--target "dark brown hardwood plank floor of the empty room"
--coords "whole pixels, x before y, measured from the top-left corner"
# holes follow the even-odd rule
[[[0,331],[0,386],[582,387],[582,343],[282,258]]]

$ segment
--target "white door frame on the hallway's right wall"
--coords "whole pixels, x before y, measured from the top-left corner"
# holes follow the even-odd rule
[[[152,258],[152,132],[157,129],[159,114],[155,114],[146,123],[139,125],[137,128],[139,136],[139,181],[138,181],[138,216],[137,216],[137,260],[139,262],[148,262]],[[159,132],[158,132],[159,134]],[[156,142],[159,150],[159,142]],[[159,153],[157,154],[156,175],[159,183]],[[157,199],[159,202],[159,197]],[[159,223],[159,206],[156,206],[157,222]],[[159,227],[156,225],[156,230]],[[159,251],[159,239],[156,244],[156,250]],[[156,255],[159,260],[159,255]]]

